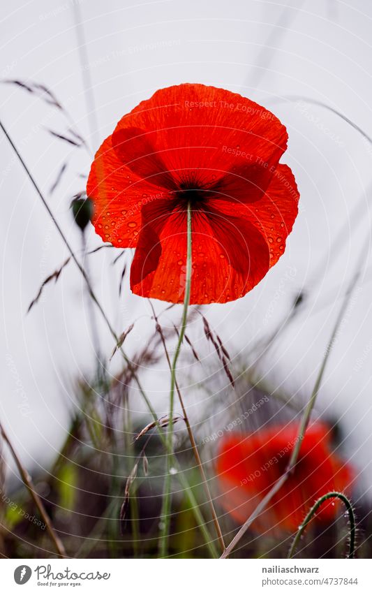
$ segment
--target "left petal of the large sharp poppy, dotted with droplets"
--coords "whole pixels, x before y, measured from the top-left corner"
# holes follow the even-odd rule
[[[96,233],[114,247],[135,247],[144,204],[165,198],[168,191],[133,176],[106,138],[92,163],[87,195],[94,202]]]

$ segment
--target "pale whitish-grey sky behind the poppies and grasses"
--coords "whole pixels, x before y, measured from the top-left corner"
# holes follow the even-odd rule
[[[286,97],[323,101],[372,136],[371,3],[82,0],[88,55],[82,61],[75,4],[72,0],[4,4],[0,77],[32,79],[50,87],[94,149],[139,101],[158,88],[180,82],[237,91],[273,110],[287,126],[290,140],[282,161],[292,167],[302,197],[285,256],[245,298],[204,307],[204,312],[229,349],[239,353],[276,325],[297,291],[311,291],[304,312],[262,367],[275,385],[283,381],[290,393],[299,390],[300,395],[308,395],[341,305],[339,297],[369,237],[372,149],[332,113],[313,105],[302,112]],[[91,103],[84,91],[88,67],[94,113],[88,112]],[[84,189],[84,180],[77,180],[76,173],[88,173],[91,158],[45,132],[43,127],[64,132],[66,122],[16,87],[0,86],[0,117],[46,194],[68,159],[64,182],[48,200],[70,242],[80,249],[68,206],[73,193]],[[94,366],[87,302],[81,277],[69,265],[26,315],[41,281],[64,261],[66,249],[3,136],[0,199],[1,420],[29,466],[47,467],[66,434],[73,380]],[[357,203],[357,224],[348,226]],[[320,261],[341,228],[345,229],[343,241],[320,273]],[[99,244],[91,230],[89,246]],[[149,307],[131,295],[127,285],[118,301],[118,278],[107,265],[111,259],[112,254],[94,256],[91,270],[96,291],[121,332],[138,316],[148,314]],[[293,268],[295,277],[288,280],[288,270]],[[364,490],[372,476],[372,464],[368,466],[371,279],[372,270],[358,284],[329,359],[318,404],[319,410],[341,417],[348,434],[348,455],[364,469]],[[283,292],[279,297],[278,290]],[[272,307],[269,325],[264,325]],[[139,325],[128,341],[130,351],[148,328],[148,321]],[[202,339],[197,328],[191,328],[191,333],[195,340]],[[101,334],[110,352],[112,342],[103,325]],[[363,358],[363,364],[356,372],[358,358]],[[161,381],[147,380],[149,395],[165,411],[168,379],[164,374],[157,376]],[[192,413],[195,416],[195,409]]]

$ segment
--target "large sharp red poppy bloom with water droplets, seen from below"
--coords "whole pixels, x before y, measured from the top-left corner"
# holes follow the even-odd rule
[[[117,124],[87,183],[93,224],[115,247],[135,247],[131,288],[184,300],[186,211],[192,211],[191,303],[235,300],[278,261],[299,193],[278,161],[287,132],[239,94],[161,89]]]

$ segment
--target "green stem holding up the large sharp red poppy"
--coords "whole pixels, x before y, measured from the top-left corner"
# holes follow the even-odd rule
[[[186,256],[186,282],[185,282],[185,297],[184,297],[184,311],[181,319],[181,329],[179,332],[179,339],[174,352],[172,369],[170,371],[170,407],[169,407],[169,423],[167,432],[167,466],[165,473],[163,508],[161,510],[161,537],[159,539],[159,556],[164,558],[168,552],[168,539],[170,530],[170,514],[171,514],[171,487],[172,487],[172,457],[173,451],[173,411],[174,411],[174,388],[176,386],[176,368],[179,353],[181,352],[181,344],[184,339],[187,312],[190,302],[191,293],[191,270],[192,270],[192,254],[191,254],[191,204],[187,205],[187,256]]]

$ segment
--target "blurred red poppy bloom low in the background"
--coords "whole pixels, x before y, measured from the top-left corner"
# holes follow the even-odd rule
[[[298,426],[276,426],[253,434],[223,438],[216,469],[223,492],[221,504],[239,523],[244,523],[260,500],[280,478],[297,440]],[[263,532],[281,528],[295,531],[311,506],[327,492],[350,489],[352,469],[332,453],[329,429],[322,423],[308,427],[295,472],[271,499],[252,529]],[[329,522],[339,501],[329,499],[315,515]]]

